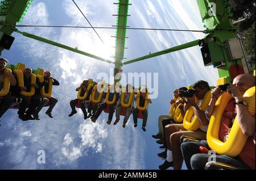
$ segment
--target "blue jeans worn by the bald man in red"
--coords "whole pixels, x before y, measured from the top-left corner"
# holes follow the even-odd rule
[[[181,144],[181,151],[188,170],[204,170],[206,163],[209,162],[208,158],[210,154],[201,153],[199,146],[204,146],[208,150],[211,150],[205,140],[184,142]],[[239,157],[232,158],[227,155],[216,155],[216,162],[250,169]]]

